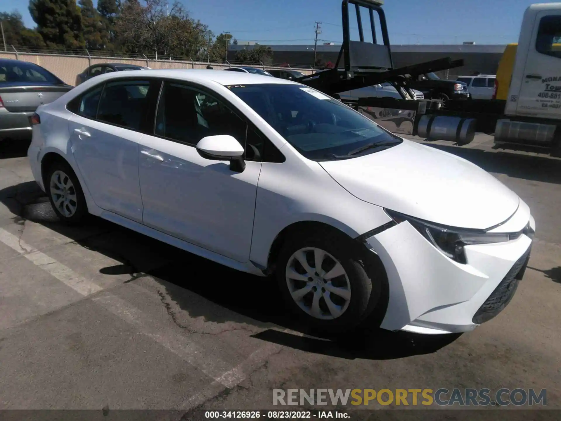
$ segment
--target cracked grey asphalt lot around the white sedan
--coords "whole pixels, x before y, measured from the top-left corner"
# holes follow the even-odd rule
[[[306,335],[265,278],[97,218],[62,226],[26,147],[0,144],[0,409],[174,409],[192,419],[201,408],[279,409],[274,388],[441,387],[546,388],[548,408],[561,409],[559,159],[496,151],[484,135],[469,148],[432,143],[530,205],[525,278],[474,332],[369,329],[338,343]]]

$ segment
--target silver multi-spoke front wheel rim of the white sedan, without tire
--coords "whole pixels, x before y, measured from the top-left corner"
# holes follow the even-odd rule
[[[340,317],[351,301],[351,283],[341,262],[319,248],[302,248],[292,254],[286,282],[296,304],[316,319]]]

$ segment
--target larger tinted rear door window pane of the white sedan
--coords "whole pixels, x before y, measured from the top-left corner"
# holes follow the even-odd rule
[[[97,120],[127,129],[140,130],[148,111],[147,80],[115,81],[105,84],[99,100]]]

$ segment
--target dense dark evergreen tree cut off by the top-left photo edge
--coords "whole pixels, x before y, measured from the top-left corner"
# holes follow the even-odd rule
[[[29,12],[50,48],[84,48],[82,16],[76,0],[30,0]]]

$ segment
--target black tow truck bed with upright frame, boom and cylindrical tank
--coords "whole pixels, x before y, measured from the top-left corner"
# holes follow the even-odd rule
[[[382,83],[390,83],[402,99],[360,98],[344,100],[386,129],[422,138],[434,138],[467,144],[476,131],[493,132],[504,109],[504,101],[413,99],[411,82],[419,75],[461,67],[463,60],[440,58],[411,66],[394,68],[383,1],[343,0],[343,44],[334,68],[306,75],[297,81],[337,98],[337,94]],[[354,6],[359,40],[351,40],[350,9]],[[361,9],[370,18],[373,42],[365,42]],[[376,37],[376,19],[381,42]],[[481,118],[485,115],[485,118]]]

